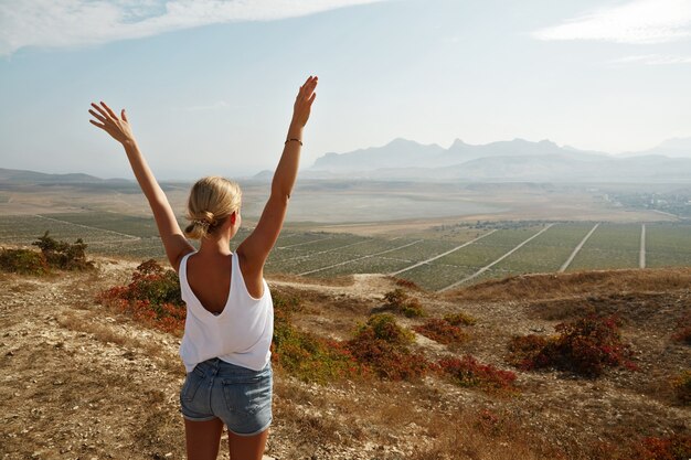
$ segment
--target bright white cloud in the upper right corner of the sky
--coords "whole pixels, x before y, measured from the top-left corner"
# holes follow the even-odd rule
[[[691,0],[635,0],[538,30],[539,40],[655,44],[691,38]]]

